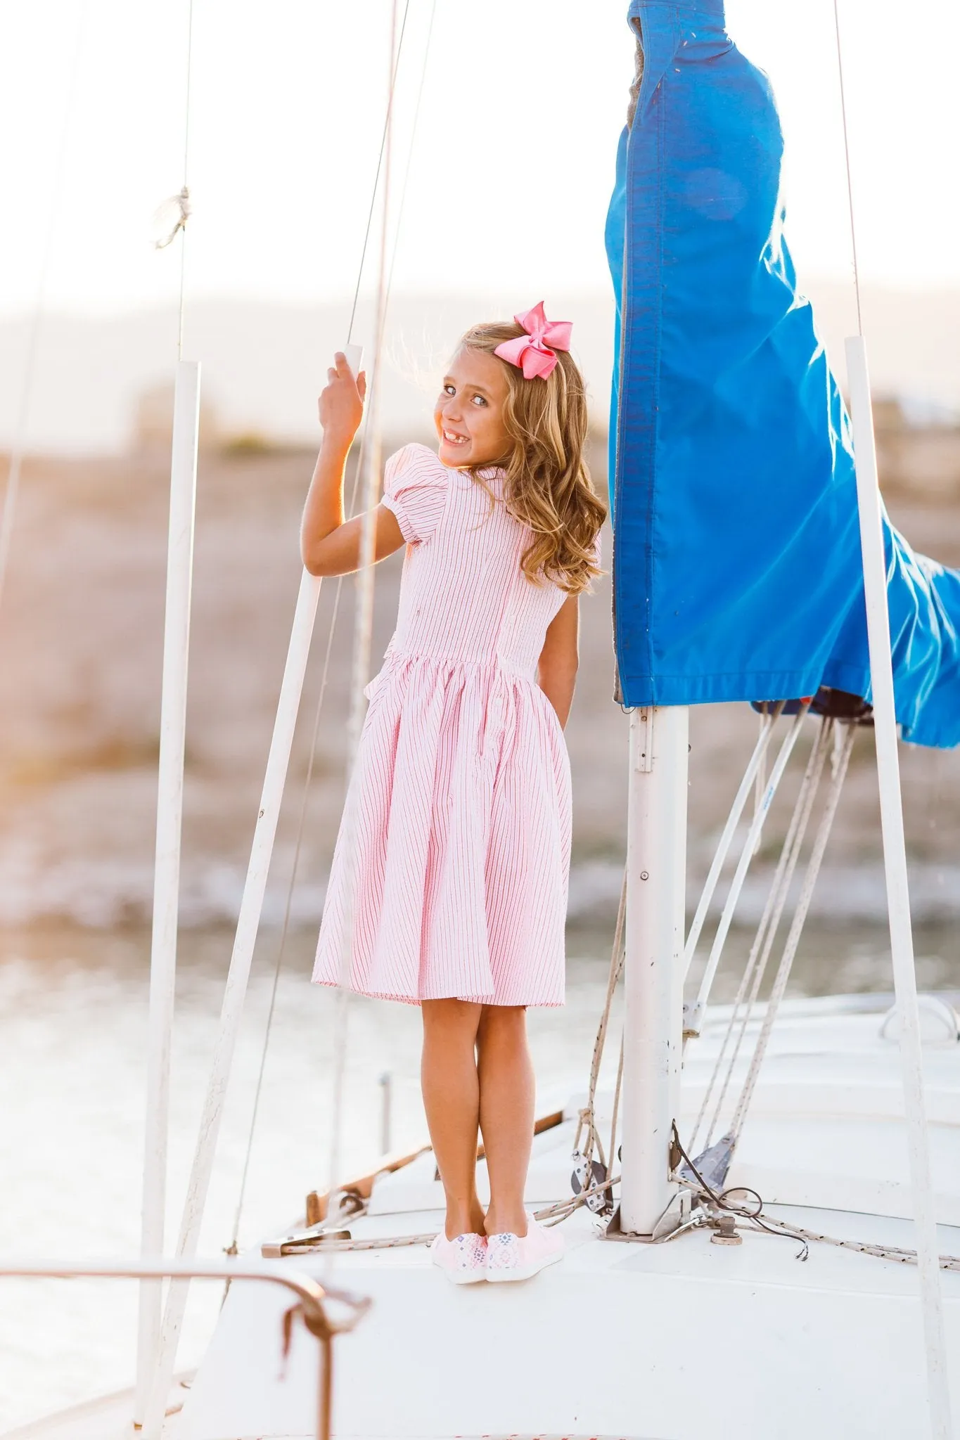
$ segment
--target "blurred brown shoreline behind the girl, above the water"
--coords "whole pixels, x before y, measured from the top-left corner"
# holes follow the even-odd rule
[[[898,431],[898,461],[910,431]],[[882,436],[881,431],[881,436]],[[923,444],[927,431],[917,432]],[[384,452],[390,451],[384,445]],[[889,452],[889,446],[887,449]],[[593,442],[603,487],[603,436]],[[220,444],[200,456],[183,835],[183,924],[229,924],[246,873],[299,582],[298,523],[312,468],[302,449]],[[944,484],[904,487],[887,465],[891,516],[913,544],[960,564],[960,513]],[[960,492],[960,465],[957,468]],[[168,451],[30,459],[0,611],[0,924],[60,919],[95,929],[150,916],[155,822]],[[604,543],[609,559],[610,539]],[[391,634],[400,557],[377,570],[373,668]],[[626,821],[628,724],[613,704],[610,580],[581,606],[581,668],[567,729],[574,785],[570,914],[616,909]],[[308,795],[295,924],[315,924],[340,822],[353,582],[325,582],[294,744],[265,923],[282,914],[330,625],[330,681]],[[689,903],[753,749],[748,706],[691,711]],[[813,723],[799,744],[797,763]],[[902,747],[915,919],[960,917],[960,752]],[[744,891],[756,916],[783,837],[784,782]],[[723,896],[723,888],[721,888]],[[872,734],[856,737],[812,920],[884,916]]]

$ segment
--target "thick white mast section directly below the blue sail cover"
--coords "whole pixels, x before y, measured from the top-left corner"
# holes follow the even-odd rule
[[[685,706],[630,716],[620,1227],[638,1236],[653,1233],[676,1189],[688,720]]]

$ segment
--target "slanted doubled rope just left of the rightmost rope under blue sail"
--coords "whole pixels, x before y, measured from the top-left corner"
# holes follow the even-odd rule
[[[789,896],[789,891],[790,891],[790,884],[793,881],[793,874],[794,874],[794,870],[797,867],[797,861],[800,858],[800,850],[802,850],[802,845],[803,845],[803,840],[806,837],[807,825],[810,822],[810,814],[813,811],[813,801],[816,799],[816,792],[819,789],[820,778],[823,775],[823,766],[826,763],[828,737],[829,737],[829,733],[830,733],[832,727],[833,727],[833,721],[830,719],[825,719],[825,720],[820,721],[820,729],[818,730],[816,740],[813,743],[813,749],[810,750],[810,757],[807,760],[806,770],[805,770],[803,779],[800,782],[800,791],[797,793],[797,799],[796,799],[796,804],[793,806],[793,815],[790,816],[790,825],[787,828],[787,834],[786,834],[786,838],[783,841],[783,848],[780,851],[780,860],[779,860],[777,868],[774,871],[773,884],[770,886],[770,894],[767,896],[767,903],[764,906],[764,912],[763,912],[763,916],[760,919],[760,926],[757,927],[757,935],[754,937],[754,943],[750,948],[750,956],[747,959],[747,965],[744,966],[744,973],[741,976],[740,986],[737,989],[737,998],[734,1001],[734,1008],[731,1011],[730,1021],[727,1024],[727,1032],[724,1034],[724,1040],[723,1040],[720,1051],[717,1054],[717,1060],[714,1063],[714,1070],[712,1070],[712,1074],[710,1077],[710,1084],[707,1087],[707,1093],[704,1094],[704,1102],[701,1104],[701,1110],[699,1110],[699,1115],[697,1117],[697,1125],[694,1128],[694,1135],[691,1136],[691,1148],[692,1148],[692,1143],[694,1143],[694,1138],[697,1136],[697,1132],[699,1129],[701,1119],[702,1119],[702,1116],[705,1113],[707,1103],[710,1100],[710,1093],[712,1090],[714,1081],[715,1081],[717,1076],[720,1074],[720,1067],[721,1067],[723,1060],[724,1060],[727,1044],[728,1044],[730,1037],[731,1037],[731,1034],[734,1031],[737,1020],[740,1020],[740,1032],[737,1035],[737,1041],[735,1041],[733,1054],[731,1054],[730,1061],[727,1064],[727,1074],[724,1077],[724,1083],[723,1083],[720,1096],[717,1097],[717,1104],[714,1107],[714,1115],[712,1115],[712,1119],[710,1122],[710,1129],[707,1132],[707,1140],[705,1140],[707,1146],[710,1145],[710,1142],[712,1139],[714,1129],[720,1123],[720,1115],[721,1115],[723,1103],[724,1103],[724,1099],[725,1099],[725,1094],[727,1094],[727,1087],[730,1086],[730,1079],[733,1076],[733,1068],[734,1068],[734,1064],[737,1061],[737,1056],[740,1054],[740,1047],[743,1044],[743,1038],[744,1038],[744,1034],[746,1034],[746,1030],[747,1030],[747,1024],[748,1024],[750,1017],[753,1014],[753,1009],[754,1009],[754,1007],[757,1004],[757,995],[760,992],[760,985],[763,982],[763,976],[764,976],[766,969],[767,969],[767,962],[770,959],[770,952],[773,950],[773,942],[774,942],[777,930],[780,927],[780,920],[783,917],[783,910],[784,910],[786,903],[787,903],[787,896]],[[744,995],[747,994],[747,986],[750,986],[750,996],[747,999],[747,1005],[746,1005],[744,1014],[743,1014],[743,1017],[740,1017],[740,1014],[738,1014],[740,1012],[740,1005],[743,1004]]]

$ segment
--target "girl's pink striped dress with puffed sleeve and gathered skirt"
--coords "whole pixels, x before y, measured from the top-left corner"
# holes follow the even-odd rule
[[[502,474],[484,472],[497,497]],[[537,684],[566,596],[530,531],[425,445],[387,461],[407,541],[397,628],[350,785],[314,981],[363,995],[561,1005],[570,762]]]

